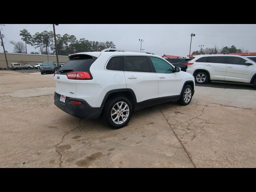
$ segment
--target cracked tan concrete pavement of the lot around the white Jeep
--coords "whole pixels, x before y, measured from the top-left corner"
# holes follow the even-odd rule
[[[256,167],[253,87],[196,86],[189,105],[146,108],[114,130],[58,109],[53,74],[3,70],[0,82],[0,167]]]

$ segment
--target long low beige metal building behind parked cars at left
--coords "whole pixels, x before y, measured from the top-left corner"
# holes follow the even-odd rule
[[[57,62],[56,55],[39,55],[39,54],[23,54],[23,53],[6,53],[8,66],[11,63],[30,64],[34,66],[36,63],[46,61]],[[68,61],[68,56],[58,56],[59,62],[64,63]],[[0,67],[7,68],[4,53],[0,52]]]

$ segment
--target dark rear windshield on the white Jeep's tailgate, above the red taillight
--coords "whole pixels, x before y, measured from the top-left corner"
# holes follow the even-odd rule
[[[97,57],[90,55],[76,55],[70,58],[56,74],[66,74],[72,71],[90,71],[90,66],[97,59]]]

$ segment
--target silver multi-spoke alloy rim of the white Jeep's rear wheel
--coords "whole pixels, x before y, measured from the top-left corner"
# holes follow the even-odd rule
[[[116,103],[111,110],[111,118],[115,124],[124,123],[129,116],[129,106],[126,102],[120,101]]]

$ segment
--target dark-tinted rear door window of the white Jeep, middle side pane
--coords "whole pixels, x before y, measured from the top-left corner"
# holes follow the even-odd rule
[[[125,56],[124,71],[151,72],[148,58],[146,56]]]

